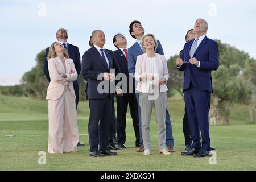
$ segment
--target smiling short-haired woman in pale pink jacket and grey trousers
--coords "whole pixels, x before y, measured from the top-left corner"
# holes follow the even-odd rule
[[[139,91],[141,106],[142,139],[144,155],[150,155],[150,118],[152,107],[155,106],[155,117],[158,125],[158,148],[164,155],[170,155],[166,150],[166,109],[167,86],[169,74],[166,59],[155,53],[157,41],[155,36],[147,34],[142,37],[142,48],[146,53],[137,57],[135,79],[138,81],[136,90]]]

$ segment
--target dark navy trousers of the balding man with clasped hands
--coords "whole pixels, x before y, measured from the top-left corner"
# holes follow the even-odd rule
[[[107,150],[110,123],[112,118],[112,99],[90,99],[90,117],[88,123],[90,152]]]

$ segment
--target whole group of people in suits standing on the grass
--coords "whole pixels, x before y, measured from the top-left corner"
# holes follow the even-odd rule
[[[212,93],[211,71],[218,68],[217,43],[205,36],[208,23],[197,19],[176,67],[184,71],[185,149],[181,155],[211,156],[208,113]],[[137,152],[150,155],[150,120],[152,107],[158,133],[160,154],[175,152],[170,114],[167,109],[169,78],[163,48],[153,34],[144,35],[138,20],[129,25],[136,42],[127,49],[125,36],[113,37],[115,51],[105,49],[105,34],[94,30],[88,49],[80,60],[79,49],[67,43],[67,30],[56,32],[57,41],[46,50],[44,73],[47,89],[49,138],[48,153],[76,152],[79,142],[77,104],[80,74],[87,82],[89,100],[89,155],[118,155],[112,150],[126,148],[126,113],[129,104]],[[115,117],[114,96],[117,98]],[[202,140],[202,141],[201,141]]]

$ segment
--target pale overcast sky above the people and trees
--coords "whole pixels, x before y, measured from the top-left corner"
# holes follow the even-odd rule
[[[168,59],[183,48],[185,33],[197,18],[208,21],[208,38],[220,39],[256,58],[253,0],[0,0],[0,85],[18,83],[23,73],[35,66],[36,55],[56,40],[59,28],[68,30],[68,42],[78,46],[82,56],[95,29],[105,32],[105,48],[115,49],[112,39],[118,32],[126,35],[128,47],[132,46],[135,39],[128,26],[139,20],[146,33],[160,40]]]

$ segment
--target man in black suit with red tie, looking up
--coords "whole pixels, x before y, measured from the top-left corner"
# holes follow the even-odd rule
[[[130,83],[131,88],[133,91],[129,93],[129,73],[128,73],[128,65],[127,65],[127,40],[125,36],[122,34],[117,34],[113,38],[114,46],[118,49],[114,51],[115,59],[117,60],[120,72],[125,74],[127,78],[127,84],[121,87],[123,92],[123,97],[117,97],[117,139],[118,139],[118,146],[120,148],[126,148],[125,141],[126,141],[126,113],[127,107],[129,103],[131,118],[133,119],[133,128],[135,133],[135,146],[139,147],[139,118],[138,118],[138,107],[137,107],[137,100],[134,92],[133,81]],[[133,77],[130,78],[133,80]],[[124,89],[126,87],[126,89]]]

